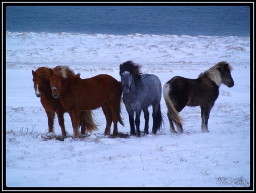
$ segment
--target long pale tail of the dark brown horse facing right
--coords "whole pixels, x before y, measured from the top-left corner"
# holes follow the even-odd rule
[[[181,124],[181,119],[178,115],[179,112],[177,112],[176,108],[174,107],[174,103],[169,96],[170,91],[170,85],[168,83],[165,83],[163,86],[163,97],[168,109],[168,115],[171,116],[171,118],[176,121],[176,123]]]

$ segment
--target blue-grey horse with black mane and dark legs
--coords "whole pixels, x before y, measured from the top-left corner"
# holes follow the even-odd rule
[[[123,85],[123,103],[129,114],[129,123],[131,135],[141,136],[139,130],[141,111],[144,112],[145,126],[144,134],[148,134],[149,112],[148,107],[152,105],[153,126],[152,133],[156,134],[162,126],[162,113],[160,110],[160,100],[162,95],[162,85],[160,79],[154,74],[142,74],[141,66],[136,65],[133,61],[127,61],[119,66],[119,74]]]

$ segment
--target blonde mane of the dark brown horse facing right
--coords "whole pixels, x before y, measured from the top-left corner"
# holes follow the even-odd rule
[[[221,66],[228,64],[226,61],[218,62],[216,65],[212,66],[209,70],[205,70],[205,72],[199,74],[200,77],[207,77],[216,83],[217,86],[220,86],[222,82],[221,72],[218,70]],[[233,68],[229,65],[229,70],[231,71]]]

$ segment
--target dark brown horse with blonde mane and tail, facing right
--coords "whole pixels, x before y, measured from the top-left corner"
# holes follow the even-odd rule
[[[185,106],[201,107],[201,130],[209,132],[208,119],[210,110],[218,98],[218,88],[221,83],[228,87],[234,86],[230,71],[232,66],[226,61],[219,62],[209,70],[201,73],[197,79],[173,77],[164,84],[163,96],[168,109],[168,119],[172,133],[176,133],[174,123],[179,132],[183,132],[178,113]],[[173,123],[174,122],[174,123]]]

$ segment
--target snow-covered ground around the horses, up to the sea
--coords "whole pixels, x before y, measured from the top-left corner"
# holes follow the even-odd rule
[[[184,133],[171,133],[162,97],[164,125],[156,135],[104,136],[105,116],[98,108],[93,110],[100,124],[97,132],[72,139],[71,119],[64,114],[69,137],[64,141],[42,138],[48,131],[47,116],[35,95],[32,70],[68,65],[81,78],[109,74],[120,81],[119,64],[127,60],[141,64],[143,73],[158,75],[162,86],[175,75],[197,78],[217,62],[228,61],[235,84],[220,86],[210,112],[209,133],[201,132],[200,107],[185,107],[180,112]],[[249,38],[6,32],[5,68],[3,185],[9,189],[239,190],[253,185]],[[129,134],[123,103],[122,117],[125,127],[118,124],[118,131]],[[54,126],[55,135],[61,135],[57,117]],[[152,116],[150,132],[151,128]]]

